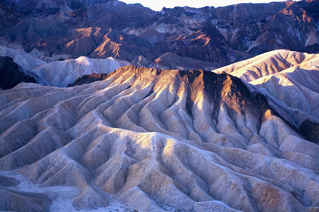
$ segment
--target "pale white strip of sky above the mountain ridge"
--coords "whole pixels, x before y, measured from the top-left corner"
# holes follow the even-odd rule
[[[126,4],[140,3],[144,7],[149,7],[154,11],[161,11],[163,7],[174,8],[176,6],[204,7],[204,6],[227,6],[239,3],[269,3],[281,2],[284,0],[120,0]]]

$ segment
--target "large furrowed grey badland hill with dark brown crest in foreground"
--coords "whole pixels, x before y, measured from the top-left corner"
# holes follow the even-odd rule
[[[102,77],[0,91],[0,169],[79,188],[76,208],[319,209],[319,145],[253,85],[134,66]]]

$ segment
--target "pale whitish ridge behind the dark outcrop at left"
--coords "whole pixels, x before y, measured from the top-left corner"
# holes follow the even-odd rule
[[[19,49],[19,47],[18,49],[13,49],[17,46],[11,47],[12,48],[0,46],[0,55],[9,55],[12,57],[14,63],[19,65],[22,74],[33,79],[33,81],[25,82],[36,82],[41,85],[67,87],[68,84],[73,83],[83,75],[110,73],[119,67],[130,65],[125,61],[114,60],[112,57],[107,59],[90,59],[82,56],[75,60],[64,60],[63,57],[68,58],[69,56],[63,54],[47,57],[41,55],[40,52],[38,50],[35,51],[35,49],[30,53],[26,53],[23,49]],[[5,66],[4,61],[1,60],[0,65]],[[9,75],[5,74],[2,75],[2,79],[4,82],[12,80]],[[1,85],[2,84],[0,84],[0,87]]]

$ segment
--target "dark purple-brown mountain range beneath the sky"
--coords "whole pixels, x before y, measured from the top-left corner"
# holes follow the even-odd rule
[[[116,0],[6,0],[0,41],[46,57],[113,57],[149,67],[170,52],[183,59],[165,69],[221,67],[276,49],[318,53],[318,11],[315,0],[159,12]],[[200,61],[189,67],[189,58]]]

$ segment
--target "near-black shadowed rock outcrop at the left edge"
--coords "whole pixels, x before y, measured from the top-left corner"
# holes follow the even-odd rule
[[[19,71],[19,66],[11,57],[0,56],[0,88],[2,90],[11,89],[21,82],[33,82],[35,79]]]

